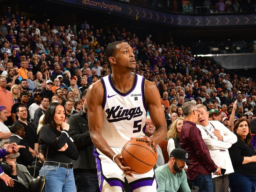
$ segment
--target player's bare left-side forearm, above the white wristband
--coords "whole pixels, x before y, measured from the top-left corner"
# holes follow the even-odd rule
[[[100,134],[91,134],[92,143],[96,148],[98,148],[104,155],[108,156],[110,159],[113,159],[113,156],[116,153],[109,147],[107,141]]]

